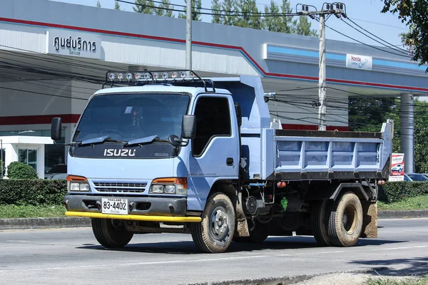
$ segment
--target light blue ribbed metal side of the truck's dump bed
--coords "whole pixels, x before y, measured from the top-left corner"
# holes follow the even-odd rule
[[[264,129],[263,179],[387,178],[392,123],[379,133]]]

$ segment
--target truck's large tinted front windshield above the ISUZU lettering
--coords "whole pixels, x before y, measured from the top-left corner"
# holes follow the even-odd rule
[[[161,140],[180,137],[189,100],[188,95],[176,93],[98,95],[84,110],[73,141],[106,135],[123,142],[153,135]]]

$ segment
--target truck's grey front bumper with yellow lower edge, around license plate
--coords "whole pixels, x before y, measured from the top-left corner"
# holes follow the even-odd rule
[[[185,217],[185,197],[121,197],[128,199],[128,214],[103,214],[101,201],[106,196],[66,195],[67,216],[129,219],[151,222],[200,222],[200,217]],[[131,206],[132,205],[132,206]]]

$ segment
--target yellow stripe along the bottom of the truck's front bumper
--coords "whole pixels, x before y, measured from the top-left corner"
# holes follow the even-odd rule
[[[200,217],[168,217],[168,216],[142,216],[136,214],[101,214],[91,212],[66,212],[70,217],[88,217],[101,219],[129,219],[131,221],[147,222],[200,222]]]

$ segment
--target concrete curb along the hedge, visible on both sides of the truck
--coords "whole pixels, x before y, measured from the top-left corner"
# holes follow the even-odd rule
[[[428,210],[379,211],[379,219],[409,219],[428,217]],[[47,229],[66,227],[91,227],[91,218],[54,217],[0,219],[0,230],[8,229]]]

